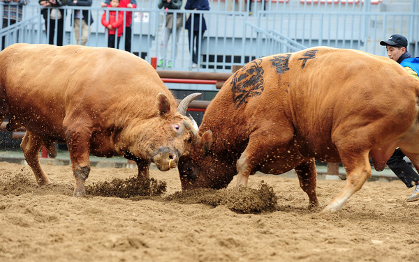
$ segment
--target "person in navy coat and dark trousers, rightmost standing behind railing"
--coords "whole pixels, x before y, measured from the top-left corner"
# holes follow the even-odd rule
[[[185,5],[186,10],[210,10],[208,0],[188,0]],[[193,20],[191,19],[193,17]],[[193,26],[193,28],[192,28]],[[191,14],[186,20],[185,29],[188,30],[189,52],[192,53],[192,68],[198,68],[199,46],[203,35],[207,30],[207,24],[203,14]]]

